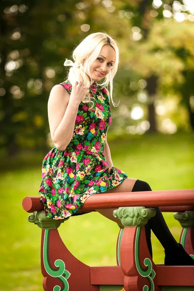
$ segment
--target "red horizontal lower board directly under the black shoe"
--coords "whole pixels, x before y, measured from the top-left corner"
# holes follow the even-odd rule
[[[161,286],[194,286],[194,266],[156,265],[157,284]]]

